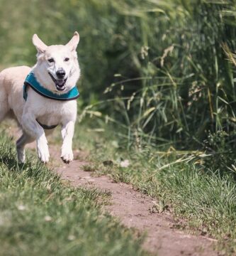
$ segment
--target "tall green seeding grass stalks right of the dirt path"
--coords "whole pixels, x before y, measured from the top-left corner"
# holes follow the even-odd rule
[[[235,67],[224,45],[235,49],[235,1],[110,3],[109,53],[119,50],[119,58],[108,74],[115,75],[82,117],[115,123],[128,146],[203,149],[219,154],[216,168],[223,159],[227,165],[235,151]]]

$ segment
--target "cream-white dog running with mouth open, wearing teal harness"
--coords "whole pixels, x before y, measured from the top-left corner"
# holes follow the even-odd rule
[[[20,163],[26,161],[26,144],[35,140],[40,161],[49,161],[46,135],[58,124],[62,127],[61,159],[66,164],[74,159],[72,138],[79,97],[75,85],[80,76],[78,43],[77,32],[64,46],[46,46],[34,34],[33,45],[38,53],[33,68],[18,66],[0,73],[0,122],[13,117],[23,131],[16,142]]]

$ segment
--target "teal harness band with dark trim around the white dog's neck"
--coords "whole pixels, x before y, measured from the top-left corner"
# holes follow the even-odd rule
[[[33,72],[30,72],[27,75],[27,78],[24,82],[23,85],[23,98],[27,100],[28,93],[27,93],[27,87],[30,86],[35,92],[38,92],[39,95],[43,97],[47,97],[52,100],[62,100],[62,101],[67,101],[67,100],[75,100],[79,97],[79,91],[76,86],[74,86],[69,92],[66,92],[61,95],[57,95],[50,90],[47,90],[45,87],[40,85],[40,83],[36,80],[35,75]]]

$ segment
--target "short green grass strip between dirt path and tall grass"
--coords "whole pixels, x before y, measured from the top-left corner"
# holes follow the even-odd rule
[[[127,151],[111,131],[101,135],[86,125],[78,128],[74,146],[89,152],[94,175],[107,174],[116,182],[132,183],[142,193],[157,198],[154,208],[159,213],[170,210],[177,220],[184,218],[179,228],[215,238],[218,250],[236,253],[235,174],[203,167],[204,155],[193,156],[201,152],[172,149],[167,153],[152,147]],[[128,167],[120,166],[124,160],[128,160]],[[104,161],[113,165],[104,165]]]

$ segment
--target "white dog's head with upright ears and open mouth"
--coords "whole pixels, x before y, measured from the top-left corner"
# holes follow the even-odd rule
[[[43,87],[57,94],[74,87],[80,75],[76,52],[78,43],[77,32],[65,46],[46,46],[36,34],[33,35],[33,44],[38,50],[33,72]]]

